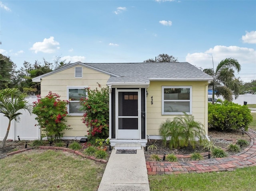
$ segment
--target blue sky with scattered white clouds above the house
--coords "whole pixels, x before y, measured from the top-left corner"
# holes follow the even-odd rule
[[[19,67],[56,56],[143,62],[167,53],[197,67],[233,57],[256,79],[256,1],[2,0],[0,53]]]

